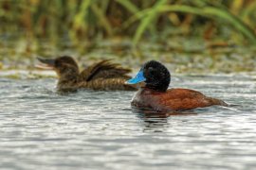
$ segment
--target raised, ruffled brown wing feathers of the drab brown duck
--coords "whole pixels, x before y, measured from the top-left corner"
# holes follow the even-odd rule
[[[127,75],[130,72],[130,69],[123,68],[118,63],[113,63],[110,59],[104,59],[85,68],[80,76],[83,81],[90,81],[97,78],[128,79],[131,77]]]

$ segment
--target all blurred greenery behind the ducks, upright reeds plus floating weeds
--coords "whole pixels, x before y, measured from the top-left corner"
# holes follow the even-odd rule
[[[164,59],[182,63],[175,68],[180,71],[192,68],[188,64],[197,59],[192,57],[201,53],[211,60],[196,62],[213,70],[221,60],[216,54],[225,54],[222,59],[236,61],[229,68],[253,71],[255,21],[255,0],[0,0],[0,68],[8,59],[16,67],[29,65],[37,55],[64,53]],[[247,50],[238,45],[250,52],[244,55]],[[177,61],[177,53],[185,57]],[[221,63],[218,68],[231,70]]]

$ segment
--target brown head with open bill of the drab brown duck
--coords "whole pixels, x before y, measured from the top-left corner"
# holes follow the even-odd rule
[[[78,64],[69,56],[63,56],[56,59],[38,58],[38,60],[41,61],[41,64],[38,66],[39,68],[56,71],[60,79],[74,79],[79,75]]]

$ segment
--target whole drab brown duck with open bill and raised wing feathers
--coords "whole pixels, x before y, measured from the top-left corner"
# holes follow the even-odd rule
[[[78,89],[136,91],[134,86],[125,84],[130,78],[130,69],[122,68],[110,60],[101,60],[84,70],[79,71],[77,62],[63,56],[57,59],[41,59],[39,68],[54,70],[59,76],[57,89],[61,92],[72,92]]]

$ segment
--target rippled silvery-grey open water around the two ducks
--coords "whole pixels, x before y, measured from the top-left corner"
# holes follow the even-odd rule
[[[255,77],[172,80],[236,106],[157,117],[131,109],[134,92],[62,95],[54,78],[0,78],[0,167],[255,169]]]

